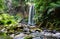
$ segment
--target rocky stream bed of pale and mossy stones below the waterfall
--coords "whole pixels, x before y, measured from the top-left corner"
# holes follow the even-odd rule
[[[41,31],[36,26],[30,26],[30,27],[29,26],[27,27],[27,26],[28,25],[20,24],[19,26],[17,26],[20,29],[15,30],[16,32],[10,34],[10,37],[13,39],[60,39],[60,32],[57,32],[55,30]]]

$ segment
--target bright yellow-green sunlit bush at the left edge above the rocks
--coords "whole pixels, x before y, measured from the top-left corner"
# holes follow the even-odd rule
[[[17,21],[14,19],[14,16],[10,16],[9,14],[6,14],[6,13],[0,14],[0,25],[14,26],[16,24],[17,24]]]

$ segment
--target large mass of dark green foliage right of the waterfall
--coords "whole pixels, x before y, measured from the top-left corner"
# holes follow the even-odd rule
[[[52,25],[50,24],[48,25],[49,28],[55,27],[55,29],[57,29],[58,24],[60,24],[59,18],[54,18],[55,15],[53,16],[50,12],[53,8],[60,6],[60,0],[34,0],[34,3],[36,9],[34,19],[36,24],[45,26],[44,28],[46,28],[48,22],[50,22],[53,27],[51,27]],[[51,17],[53,17],[53,19]]]

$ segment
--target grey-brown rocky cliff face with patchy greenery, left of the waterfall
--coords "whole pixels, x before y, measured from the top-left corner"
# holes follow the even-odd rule
[[[14,2],[18,2],[17,6],[14,5]],[[28,15],[28,5],[26,5],[25,0],[6,0],[6,4],[8,7],[7,12],[11,15],[21,14],[23,18],[27,17]]]

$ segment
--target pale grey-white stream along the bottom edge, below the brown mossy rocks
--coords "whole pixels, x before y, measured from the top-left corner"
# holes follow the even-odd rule
[[[15,36],[14,39],[24,39],[26,34],[24,33],[20,33],[19,35]],[[30,33],[30,35],[33,36],[32,39],[60,39],[60,33],[49,33],[49,32],[33,32],[33,33]]]

